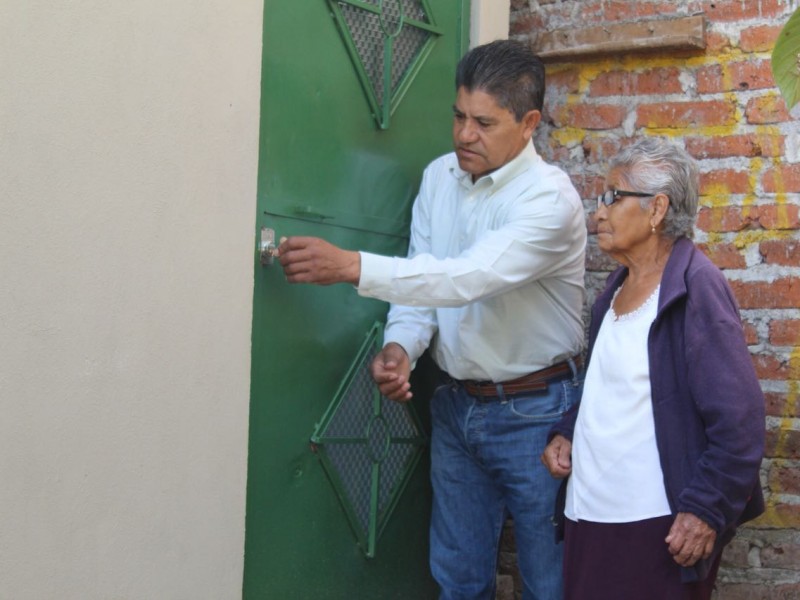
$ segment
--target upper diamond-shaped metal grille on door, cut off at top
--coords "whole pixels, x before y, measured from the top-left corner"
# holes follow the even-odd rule
[[[381,129],[441,31],[427,0],[328,0]]]

